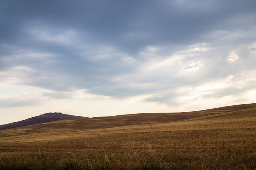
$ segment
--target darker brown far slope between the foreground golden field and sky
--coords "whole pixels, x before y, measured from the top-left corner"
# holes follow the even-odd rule
[[[1,132],[0,137],[16,136],[21,134],[43,133],[43,132],[74,132],[83,130],[96,130],[114,127],[156,125],[161,123],[172,123],[196,119],[210,115],[219,115],[242,111],[244,109],[256,108],[256,103],[219,107],[202,111],[182,113],[139,113],[130,115],[118,115],[109,117],[92,117],[87,119],[70,119],[58,122],[49,122],[40,125],[26,126],[16,129],[8,129]],[[50,116],[50,115],[48,115]]]

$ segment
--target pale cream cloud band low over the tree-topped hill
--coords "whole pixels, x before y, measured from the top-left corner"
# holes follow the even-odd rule
[[[60,111],[70,115],[102,117],[132,113],[164,112],[178,108],[164,103],[148,102],[150,95],[138,95],[122,99],[95,95],[86,89],[69,91],[49,91],[47,89],[27,88],[12,95],[0,95],[1,124],[20,121],[38,114]],[[40,91],[41,92],[38,92]]]

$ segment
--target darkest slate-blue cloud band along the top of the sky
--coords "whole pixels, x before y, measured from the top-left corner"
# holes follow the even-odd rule
[[[209,30],[237,28],[236,17],[254,13],[256,5],[254,1],[200,0],[2,0],[1,4],[2,42],[16,42],[26,24],[50,25],[88,32],[92,42],[110,43],[135,53],[148,44],[190,43]]]

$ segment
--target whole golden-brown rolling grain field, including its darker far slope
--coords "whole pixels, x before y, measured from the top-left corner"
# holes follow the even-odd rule
[[[2,130],[0,169],[256,169],[256,104]]]

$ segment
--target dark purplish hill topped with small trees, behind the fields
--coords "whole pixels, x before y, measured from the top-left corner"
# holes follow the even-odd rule
[[[52,121],[61,121],[66,119],[81,119],[81,118],[86,118],[86,117],[66,115],[60,112],[53,112],[53,113],[50,112],[50,113],[44,113],[42,115],[38,115],[36,117],[31,117],[23,121],[8,123],[6,125],[0,125],[0,130],[24,127],[28,125],[37,125],[37,124],[47,123]]]

